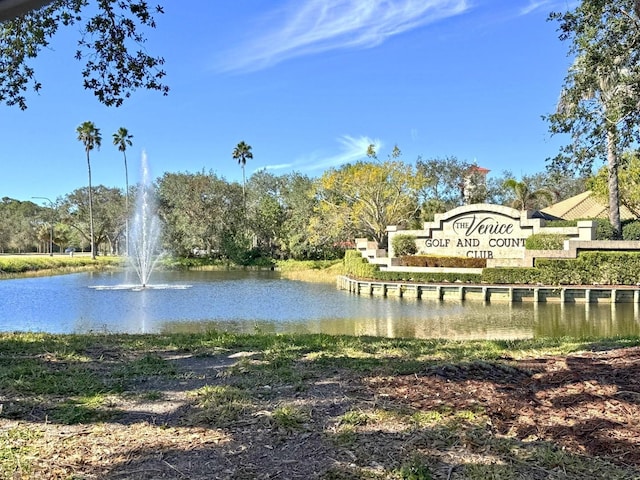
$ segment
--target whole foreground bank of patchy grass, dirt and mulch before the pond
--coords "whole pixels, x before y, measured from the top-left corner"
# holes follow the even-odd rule
[[[0,334],[0,478],[640,478],[638,345]]]

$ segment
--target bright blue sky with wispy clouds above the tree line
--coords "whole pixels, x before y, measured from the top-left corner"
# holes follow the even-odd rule
[[[311,177],[365,158],[457,157],[499,175],[544,171],[564,138],[542,116],[570,59],[551,11],[557,0],[164,1],[147,50],[165,58],[169,96],[138,90],[119,108],[83,90],[65,30],[35,63],[43,87],[29,108],[1,105],[0,197],[55,200],[87,184],[76,138],[93,121],[94,185],[124,186],[112,134],[134,136],[129,176],[145,151],[152,175],[209,172],[241,181],[231,158],[253,147],[259,169]],[[35,200],[34,200],[35,201]],[[41,201],[40,201],[41,202]]]

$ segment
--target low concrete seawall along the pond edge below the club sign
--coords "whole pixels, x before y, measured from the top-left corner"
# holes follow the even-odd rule
[[[480,300],[485,302],[640,303],[640,288],[633,286],[538,286],[428,284],[337,278],[340,290],[358,295]]]

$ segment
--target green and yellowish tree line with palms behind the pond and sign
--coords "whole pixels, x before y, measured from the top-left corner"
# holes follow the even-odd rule
[[[90,122],[78,128],[89,175],[89,153],[100,145],[99,138]],[[128,185],[126,173],[126,148],[132,139],[125,128],[113,135],[125,158],[124,188],[92,184],[44,206],[2,198],[0,253],[45,253],[53,241],[55,252],[68,247],[91,251],[94,245],[95,253],[126,254],[131,205],[138,191]],[[384,247],[388,225],[421,228],[436,213],[465,203],[536,210],[582,192],[589,180],[548,172],[515,179],[508,171],[485,178],[477,165],[456,157],[405,162],[397,147],[387,159],[379,159],[371,148],[367,153],[365,160],[316,178],[260,170],[246,179],[243,175],[240,184],[213,172],[167,172],[154,182],[163,248],[177,256],[241,264],[256,256],[338,258],[355,238]],[[244,172],[253,158],[251,146],[240,142],[231,158]]]

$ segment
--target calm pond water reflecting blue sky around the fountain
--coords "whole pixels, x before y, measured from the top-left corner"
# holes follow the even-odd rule
[[[0,331],[164,333],[220,329],[383,337],[514,339],[640,335],[634,304],[456,302],[358,296],[275,272],[156,272],[141,291],[126,273],[0,281]],[[188,288],[175,288],[183,286]]]

